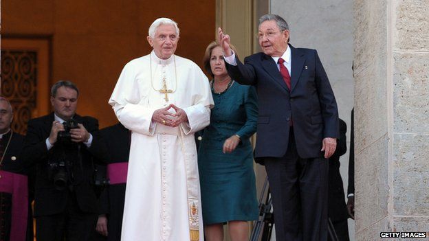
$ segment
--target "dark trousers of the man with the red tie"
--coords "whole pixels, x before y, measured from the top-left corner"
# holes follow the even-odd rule
[[[277,241],[326,241],[328,160],[302,159],[291,130],[284,157],[266,158]]]

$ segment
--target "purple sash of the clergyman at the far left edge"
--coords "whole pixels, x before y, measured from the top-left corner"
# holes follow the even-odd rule
[[[23,241],[27,233],[28,177],[0,170],[0,192],[12,194],[10,240]]]

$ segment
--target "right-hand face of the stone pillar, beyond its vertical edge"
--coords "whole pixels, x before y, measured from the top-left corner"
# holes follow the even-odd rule
[[[392,72],[388,78],[393,97],[390,228],[429,231],[429,1],[389,2]]]

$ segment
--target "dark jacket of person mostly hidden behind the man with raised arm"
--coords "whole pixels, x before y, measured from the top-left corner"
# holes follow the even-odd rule
[[[340,174],[340,157],[347,152],[346,133],[347,124],[340,119],[340,137],[337,139],[337,148],[329,158],[328,215],[332,222],[349,218]]]

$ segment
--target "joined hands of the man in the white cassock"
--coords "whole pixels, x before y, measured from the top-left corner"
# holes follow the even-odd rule
[[[171,113],[169,110],[173,108],[176,113]],[[177,127],[183,122],[188,122],[188,115],[186,112],[174,104],[170,104],[165,108],[160,108],[153,112],[152,121],[158,122],[165,126]]]

